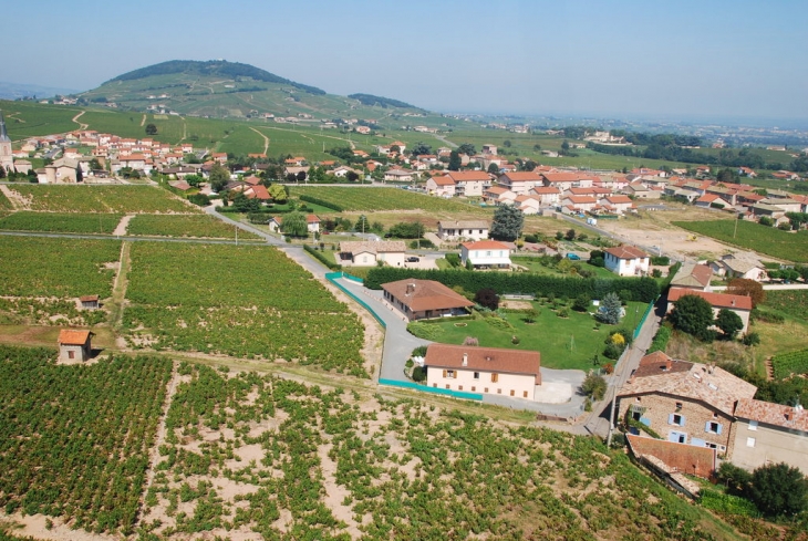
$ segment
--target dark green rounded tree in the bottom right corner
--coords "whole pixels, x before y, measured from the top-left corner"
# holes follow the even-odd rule
[[[752,472],[749,499],[766,517],[794,517],[808,509],[808,479],[785,462]]]

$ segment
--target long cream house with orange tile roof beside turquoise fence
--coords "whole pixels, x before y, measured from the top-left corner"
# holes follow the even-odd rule
[[[535,351],[429,344],[424,366],[433,388],[531,400],[541,385],[541,355]]]

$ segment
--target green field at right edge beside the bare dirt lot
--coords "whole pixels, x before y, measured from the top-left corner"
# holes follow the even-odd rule
[[[796,263],[808,262],[808,231],[796,233],[743,220],[674,221],[688,231]],[[735,227],[737,226],[737,235]]]

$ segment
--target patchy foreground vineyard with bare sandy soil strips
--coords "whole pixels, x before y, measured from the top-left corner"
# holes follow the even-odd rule
[[[144,540],[733,539],[592,438],[255,373],[179,373]]]

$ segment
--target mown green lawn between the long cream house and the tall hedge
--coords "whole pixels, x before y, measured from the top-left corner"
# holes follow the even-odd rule
[[[614,329],[633,329],[640,321],[646,305],[641,302],[629,303],[624,324],[601,325],[595,329],[594,319],[588,313],[568,310],[568,318],[560,318],[548,303],[534,302],[539,312],[536,323],[526,323],[525,315],[518,312],[506,314],[507,326],[493,325],[490,319],[477,316],[466,321],[442,321],[428,323],[437,325],[442,334],[436,342],[463,344],[467,336],[476,337],[480,346],[509,347],[541,352],[541,366],[548,368],[589,370],[593,367],[592,357],[598,354],[601,365],[610,362],[601,353],[605,339]],[[590,306],[590,312],[594,311]],[[514,345],[514,336],[519,344]]]

